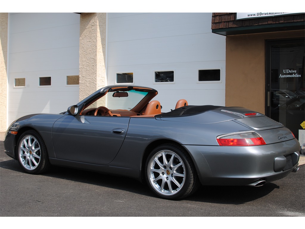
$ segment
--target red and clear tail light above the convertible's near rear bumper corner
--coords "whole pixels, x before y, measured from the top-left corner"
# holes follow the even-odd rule
[[[217,137],[220,146],[257,146],[265,145],[264,139],[256,132],[224,134]]]

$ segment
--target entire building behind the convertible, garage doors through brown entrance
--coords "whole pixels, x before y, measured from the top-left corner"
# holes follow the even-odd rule
[[[1,131],[128,84],[157,89],[163,112],[247,107],[304,143],[304,13],[270,14],[1,13]]]

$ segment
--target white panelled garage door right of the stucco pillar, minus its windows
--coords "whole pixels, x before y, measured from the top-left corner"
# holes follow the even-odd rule
[[[212,34],[212,13],[109,13],[107,81],[134,73],[134,85],[158,90],[162,111],[225,104],[225,37]],[[221,69],[221,82],[199,83],[198,70]],[[174,83],[154,83],[155,71],[174,71]]]

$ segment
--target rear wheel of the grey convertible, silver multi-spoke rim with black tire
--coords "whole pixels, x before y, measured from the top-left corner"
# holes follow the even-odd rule
[[[174,144],[160,145],[149,154],[145,177],[152,192],[168,200],[185,198],[199,187],[191,158],[181,146]]]

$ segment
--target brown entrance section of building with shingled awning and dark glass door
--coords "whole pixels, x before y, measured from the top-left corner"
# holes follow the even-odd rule
[[[226,36],[226,106],[256,110],[305,143],[304,13],[213,13]]]

